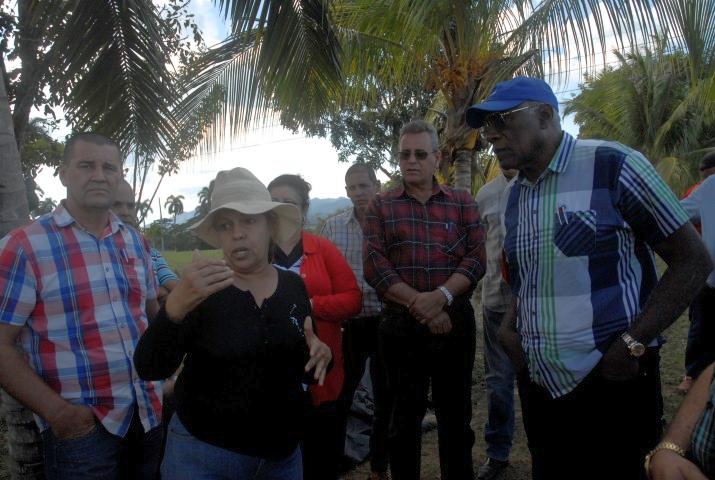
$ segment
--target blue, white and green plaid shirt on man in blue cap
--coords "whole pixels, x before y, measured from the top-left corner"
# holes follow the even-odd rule
[[[504,249],[534,382],[556,398],[596,366],[657,283],[651,247],[688,221],[640,153],[575,140],[509,192]]]

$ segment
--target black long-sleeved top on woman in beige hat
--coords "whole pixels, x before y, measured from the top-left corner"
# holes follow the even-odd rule
[[[276,269],[278,287],[258,307],[250,292],[211,295],[177,325],[162,308],[134,353],[139,376],[170,377],[176,413],[188,431],[244,455],[281,458],[298,445],[301,381],[309,359],[303,322],[310,313],[300,277]]]

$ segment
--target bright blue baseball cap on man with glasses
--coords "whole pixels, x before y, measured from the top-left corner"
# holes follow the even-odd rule
[[[480,128],[490,113],[511,110],[527,101],[546,103],[559,110],[559,101],[548,83],[540,78],[514,77],[497,83],[486,100],[467,109],[467,125]]]

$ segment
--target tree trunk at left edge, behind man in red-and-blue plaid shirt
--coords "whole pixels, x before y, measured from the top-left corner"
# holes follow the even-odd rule
[[[5,79],[0,78],[0,237],[27,223],[29,215]],[[42,444],[32,414],[4,391],[1,397],[10,478],[44,478]]]

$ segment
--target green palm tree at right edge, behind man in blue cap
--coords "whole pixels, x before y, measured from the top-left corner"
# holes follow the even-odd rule
[[[665,35],[653,48],[618,54],[618,66],[587,76],[566,103],[580,135],[609,138],[648,157],[682,193],[696,178],[702,150],[715,147],[715,105],[705,98],[715,78],[715,12],[694,1],[668,25],[686,39],[674,49]]]

